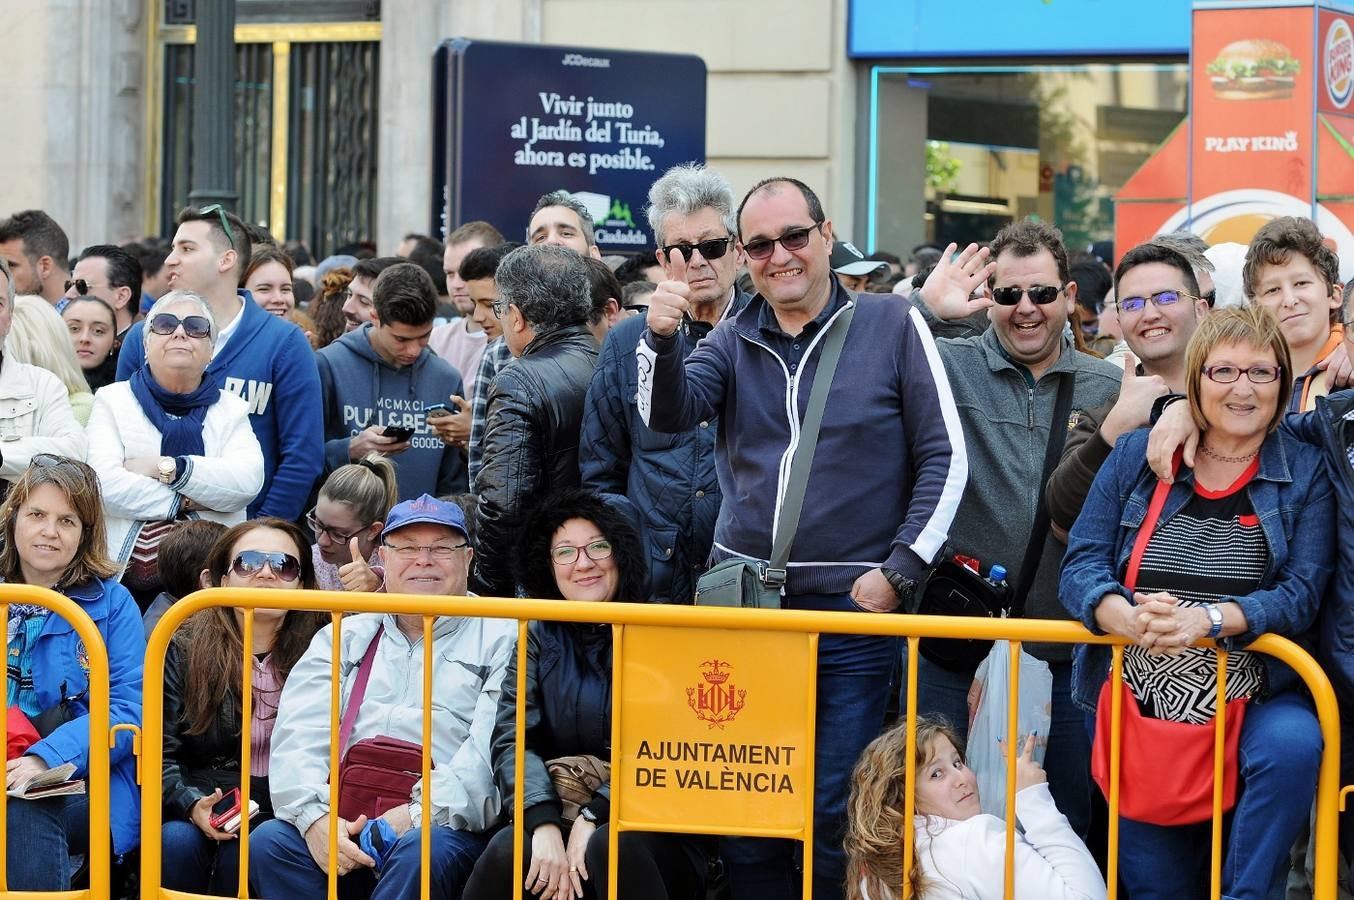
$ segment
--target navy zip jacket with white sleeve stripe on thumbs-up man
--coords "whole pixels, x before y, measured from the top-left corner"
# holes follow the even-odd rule
[[[787,594],[845,594],[887,566],[917,578],[949,535],[968,478],[964,433],[945,367],[921,314],[895,295],[853,295],[831,279],[827,310],[856,305],[827,394],[804,508],[789,552]],[[678,332],[645,332],[639,411],[658,432],[719,415],[715,470],[723,502],[711,562],[766,559],[788,460],[829,325],[803,332],[803,360],[772,349],[754,296],[695,349]],[[830,319],[833,321],[833,319]]]

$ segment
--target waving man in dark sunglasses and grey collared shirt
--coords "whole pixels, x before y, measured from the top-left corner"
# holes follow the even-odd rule
[[[1003,227],[990,250],[969,245],[952,260],[953,250],[953,245],[946,249],[914,298],[929,322],[986,309],[991,326],[978,336],[938,341],[969,449],[969,479],[945,552],[979,560],[983,575],[994,564],[1003,566],[1007,583],[1025,589],[1030,618],[1068,618],[1057,598],[1063,547],[1044,540],[1047,528],[1036,529],[1045,456],[1056,433],[1051,429],[1066,433],[1068,428],[1066,415],[1055,421],[1059,388],[1070,380],[1071,410],[1094,409],[1114,399],[1122,374],[1078,352],[1072,342],[1067,323],[1076,283],[1057,229],[1025,219]],[[991,294],[975,298],[983,282]],[[1034,551],[1034,571],[1024,572],[1026,554]],[[974,671],[929,658],[926,642],[921,648],[919,712],[944,715],[964,736]],[[1090,739],[1085,715],[1071,700],[1071,646],[1026,644],[1025,650],[1045,660],[1053,675],[1044,763],[1049,790],[1085,836],[1091,809]]]

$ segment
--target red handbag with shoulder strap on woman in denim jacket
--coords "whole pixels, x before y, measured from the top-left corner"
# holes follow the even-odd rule
[[[1133,591],[1137,570],[1166,505],[1171,486],[1158,482],[1147,517],[1128,559],[1124,586]],[[1101,686],[1095,706],[1095,739],[1091,744],[1091,778],[1109,798],[1110,717],[1113,673]],[[1204,724],[1144,716],[1137,697],[1122,679],[1118,755],[1118,812],[1154,826],[1187,826],[1213,817],[1213,742],[1217,716]],[[1240,697],[1223,706],[1223,811],[1236,805],[1236,744],[1246,719]]]

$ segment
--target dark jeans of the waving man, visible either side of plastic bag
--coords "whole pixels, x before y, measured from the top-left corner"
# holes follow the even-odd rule
[[[906,663],[906,650],[903,655]],[[1048,792],[1072,831],[1086,840],[1091,824],[1091,742],[1086,734],[1086,713],[1072,702],[1072,665],[1049,663],[1048,671],[1053,675],[1052,721],[1044,755]],[[906,678],[906,666],[903,673]],[[917,678],[921,712],[944,716],[967,740],[968,689],[974,683],[974,673],[953,673],[923,656],[917,663]],[[899,708],[906,709],[906,683],[900,694]]]

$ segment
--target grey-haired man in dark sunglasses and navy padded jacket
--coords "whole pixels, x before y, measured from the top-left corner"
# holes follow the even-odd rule
[[[692,310],[682,329],[696,341],[750,299],[738,290],[734,246],[734,192],[724,176],[701,165],[678,165],[649,188],[649,225],[659,260],[686,261]],[[647,310],[645,310],[647,311]],[[635,402],[639,390],[635,348],[645,317],[612,328],[584,405],[578,464],[584,487],[628,497],[645,521],[650,597],[689,604],[705,568],[719,514],[715,436],[719,421],[701,420],[680,434],[654,434]]]

